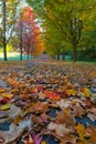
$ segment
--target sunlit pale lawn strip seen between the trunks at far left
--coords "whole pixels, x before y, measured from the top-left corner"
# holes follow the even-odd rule
[[[7,53],[8,60],[20,60],[20,53],[18,52],[8,52]],[[31,59],[31,56],[29,56]],[[28,55],[22,54],[23,60],[28,60]],[[0,60],[3,60],[3,53],[0,52]]]

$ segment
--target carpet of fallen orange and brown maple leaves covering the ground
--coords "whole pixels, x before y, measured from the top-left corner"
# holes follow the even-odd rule
[[[96,65],[0,62],[0,144],[96,144]]]

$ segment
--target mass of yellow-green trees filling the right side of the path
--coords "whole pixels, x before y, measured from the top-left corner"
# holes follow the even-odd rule
[[[88,53],[96,58],[95,0],[26,0],[43,27],[46,52],[51,55],[71,53],[74,61]],[[58,56],[57,56],[58,59]],[[85,54],[86,60],[86,54]]]

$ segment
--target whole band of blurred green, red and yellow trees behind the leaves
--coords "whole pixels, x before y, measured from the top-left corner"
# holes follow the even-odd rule
[[[0,0],[0,48],[96,61],[96,0]]]

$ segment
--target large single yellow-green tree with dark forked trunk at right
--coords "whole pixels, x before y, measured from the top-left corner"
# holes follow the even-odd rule
[[[95,0],[28,0],[36,11],[44,31],[51,29],[61,35],[61,43],[65,41],[74,52],[73,59],[77,60],[77,51],[86,41],[85,29],[90,27],[88,18],[94,14]],[[60,34],[61,33],[61,34]],[[51,39],[53,39],[50,35]]]

